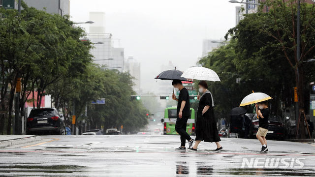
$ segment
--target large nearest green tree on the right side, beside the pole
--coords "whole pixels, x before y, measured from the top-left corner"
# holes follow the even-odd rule
[[[301,56],[299,57],[296,52],[297,0],[266,0],[262,5],[264,4],[272,6],[269,13],[247,14],[239,25],[229,30],[226,39],[229,34],[232,35],[232,39],[238,39],[238,52],[248,56],[248,60],[245,59],[242,62],[254,63],[251,66],[257,71],[257,75],[263,76],[262,73],[270,72],[269,78],[273,77],[272,81],[274,81],[270,86],[280,86],[277,85],[277,80],[286,80],[288,84],[282,87],[287,86],[290,89],[286,91],[288,95],[292,93],[290,81],[294,81],[294,85],[298,88],[299,107],[304,109],[305,90],[303,88],[307,82],[310,82],[306,79],[314,79],[314,76],[306,72],[311,68],[303,61],[315,56],[315,4],[301,3]],[[268,64],[273,67],[265,70],[264,66]],[[263,68],[264,72],[259,72],[260,68]],[[305,137],[304,130],[304,123],[301,123],[302,138]]]

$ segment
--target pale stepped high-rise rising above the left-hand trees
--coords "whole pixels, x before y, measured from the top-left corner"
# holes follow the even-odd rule
[[[117,69],[122,72],[124,70],[124,48],[115,48],[112,34],[105,33],[105,13],[90,12],[90,21],[95,23],[90,25],[86,39],[95,43],[95,48],[91,50],[91,54],[95,57],[94,62],[105,68]]]

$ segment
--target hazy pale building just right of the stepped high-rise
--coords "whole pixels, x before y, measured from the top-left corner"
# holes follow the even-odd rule
[[[137,62],[136,59],[133,59],[133,56],[128,56],[124,63],[124,71],[129,72],[133,79],[134,86],[132,87],[134,91],[137,93],[141,92],[141,71],[140,71],[140,63]]]

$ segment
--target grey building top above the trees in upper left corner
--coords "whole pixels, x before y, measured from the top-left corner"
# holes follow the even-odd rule
[[[1,0],[2,1],[2,0]],[[38,10],[46,8],[46,12],[51,14],[69,15],[70,0],[23,0],[29,7],[35,7]],[[15,9],[18,9],[16,1]],[[22,7],[23,9],[23,7]]]

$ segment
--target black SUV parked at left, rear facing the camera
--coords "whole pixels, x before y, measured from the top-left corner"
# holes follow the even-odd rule
[[[26,134],[65,135],[63,116],[55,108],[32,109],[27,121]]]

